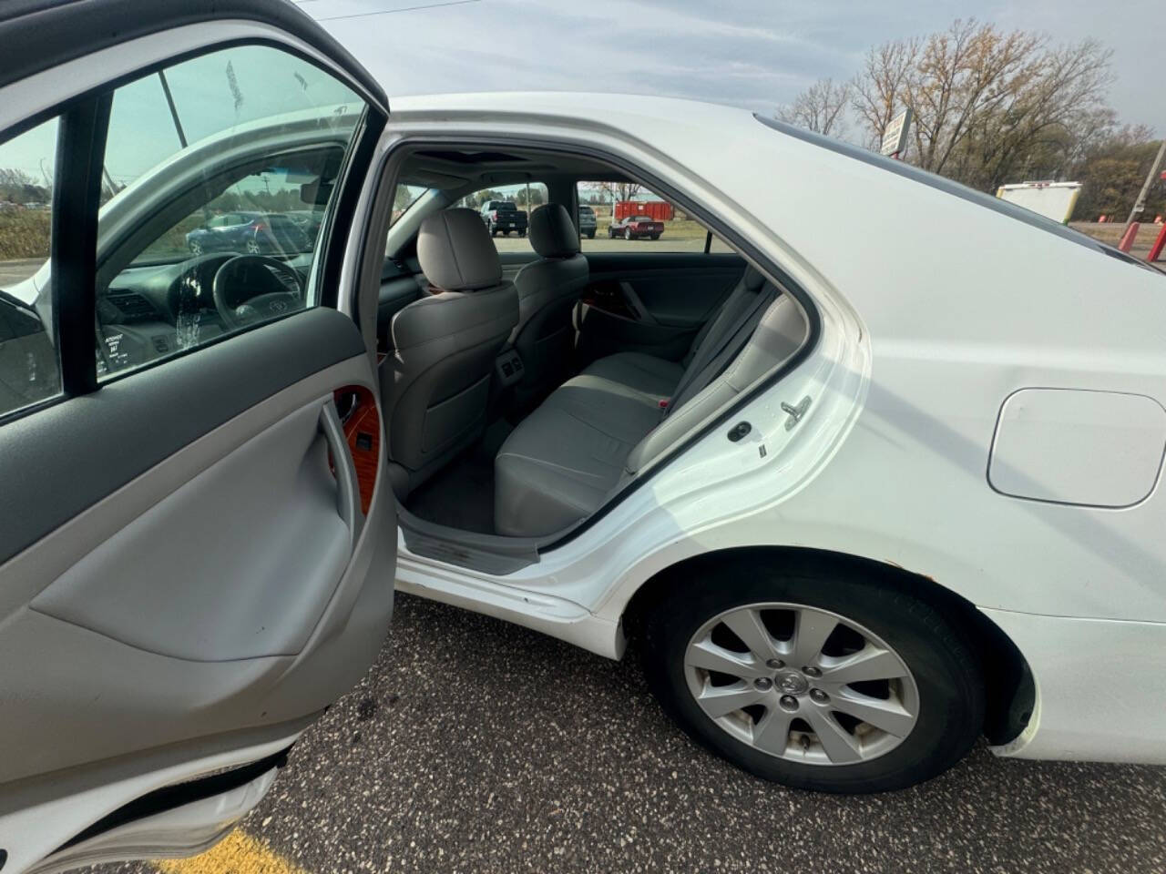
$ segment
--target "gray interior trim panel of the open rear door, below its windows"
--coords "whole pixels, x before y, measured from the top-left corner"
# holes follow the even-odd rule
[[[354,355],[307,376],[286,366],[310,360],[332,325],[354,338],[339,346]],[[184,427],[201,422],[199,437],[122,473],[120,487],[0,566],[0,663],[23,665],[0,675],[0,700],[21,703],[0,709],[0,784],[315,713],[375,657],[392,605],[395,506],[378,489],[364,521],[345,521],[328,465],[338,440],[319,427],[335,389],[375,390],[359,332],[338,312],[314,310],[198,358],[226,357],[232,345],[247,347],[229,357],[254,367],[262,400],[237,396],[245,406],[226,421],[188,410]],[[128,423],[152,408],[156,418],[167,388],[188,393],[170,397],[216,396],[224,372],[191,368],[194,359],[86,400],[107,408],[101,421],[117,410]],[[147,382],[153,390],[134,390]],[[48,471],[58,449],[45,439],[22,456]],[[78,468],[127,449],[72,446]],[[37,503],[28,500],[26,514],[37,515]]]

